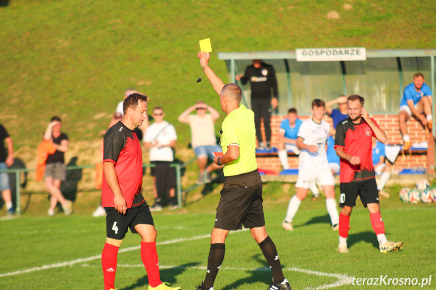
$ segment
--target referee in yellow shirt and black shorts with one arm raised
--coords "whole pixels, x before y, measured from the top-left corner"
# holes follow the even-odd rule
[[[262,180],[256,163],[256,130],[254,113],[239,104],[242,91],[236,84],[224,85],[209,67],[210,54],[199,52],[200,64],[213,88],[220,96],[220,104],[227,117],[222,123],[221,147],[224,156],[215,157],[217,165],[224,165],[226,181],[221,190],[211,234],[208,267],[205,280],[197,290],[213,290],[213,284],[224,260],[225,239],[230,230],[250,228],[272,270],[268,290],[291,290],[284,278],[274,242],[266,233],[262,207]]]

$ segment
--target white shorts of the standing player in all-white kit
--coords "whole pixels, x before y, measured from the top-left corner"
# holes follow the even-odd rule
[[[328,163],[320,165],[318,167],[304,166],[300,168],[298,171],[298,178],[295,186],[300,188],[309,188],[309,186],[316,180],[318,180],[319,185],[321,186],[334,186],[334,179],[331,175],[331,170],[328,166]]]

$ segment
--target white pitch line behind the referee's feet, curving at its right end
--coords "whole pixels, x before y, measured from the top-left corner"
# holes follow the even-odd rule
[[[90,267],[88,264],[83,264],[83,267]],[[100,267],[100,266],[94,266],[94,267]],[[143,264],[118,264],[117,267],[125,267],[125,268],[143,268]],[[160,269],[200,269],[200,270],[207,270],[207,267],[205,266],[164,266],[159,265]],[[221,267],[220,270],[236,270],[236,271],[271,271],[269,267],[263,267],[263,268],[240,268],[240,267]],[[337,278],[337,281],[331,284],[323,284],[319,286],[314,287],[306,287],[307,290],[318,290],[318,289],[328,289],[328,288],[334,288],[342,285],[348,285],[353,282],[352,278],[348,275],[344,274],[334,274],[334,273],[325,273],[325,272],[319,272],[319,271],[313,271],[313,270],[307,270],[307,269],[300,269],[300,268],[284,268],[283,271],[294,271],[294,272],[300,272],[304,274],[310,274],[310,275],[317,275],[317,276],[327,276],[327,277],[333,277]]]

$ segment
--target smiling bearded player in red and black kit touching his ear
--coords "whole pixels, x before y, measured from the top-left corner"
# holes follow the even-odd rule
[[[377,235],[379,250],[382,253],[397,252],[402,242],[387,241],[384,223],[380,215],[378,190],[372,163],[372,136],[381,143],[386,142],[386,134],[377,123],[369,118],[363,107],[364,98],[359,95],[348,97],[348,118],[336,127],[334,149],[341,158],[341,198],[339,216],[339,246],[337,251],[348,253],[347,237],[350,215],[359,195],[364,207],[370,213],[371,225]]]

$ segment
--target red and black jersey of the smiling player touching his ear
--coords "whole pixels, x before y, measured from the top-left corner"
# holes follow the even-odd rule
[[[374,119],[371,120],[379,127]],[[372,136],[375,137],[375,134],[363,118],[359,124],[354,124],[350,118],[337,124],[334,148],[342,148],[345,153],[360,158],[360,164],[357,165],[341,158],[341,183],[375,178]]]

